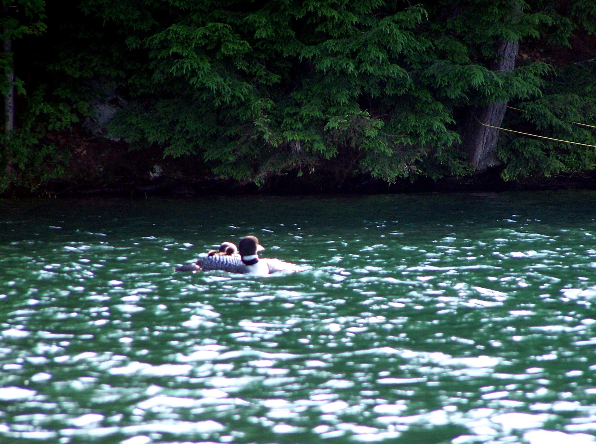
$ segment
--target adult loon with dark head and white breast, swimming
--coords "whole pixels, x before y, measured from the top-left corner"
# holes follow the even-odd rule
[[[243,238],[238,246],[240,254],[213,253],[201,257],[195,263],[182,265],[176,268],[175,271],[224,270],[253,276],[268,276],[276,272],[305,271],[302,266],[284,260],[259,258],[259,252],[265,249],[259,244],[259,239],[255,236]],[[224,244],[222,244],[222,247],[224,247]],[[222,250],[222,247],[220,247],[220,250]]]

